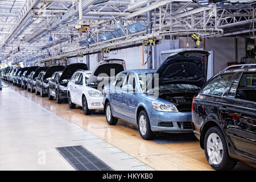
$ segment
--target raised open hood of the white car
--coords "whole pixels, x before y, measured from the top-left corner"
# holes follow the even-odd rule
[[[114,69],[114,75],[111,75],[111,69]],[[115,77],[118,73],[125,70],[125,61],[122,59],[109,59],[105,61],[100,61],[100,63],[98,63],[94,68],[92,75],[90,75],[90,77],[88,78],[87,85],[91,84],[92,82],[100,81],[98,80],[98,77],[112,78]]]

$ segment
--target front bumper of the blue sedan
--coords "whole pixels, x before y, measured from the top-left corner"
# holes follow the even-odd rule
[[[148,115],[151,130],[167,133],[192,133],[191,112],[162,112],[152,111]]]

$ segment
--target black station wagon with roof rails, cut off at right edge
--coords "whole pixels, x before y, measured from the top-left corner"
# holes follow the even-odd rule
[[[193,99],[194,134],[214,169],[232,169],[237,160],[256,167],[255,66],[226,68]]]

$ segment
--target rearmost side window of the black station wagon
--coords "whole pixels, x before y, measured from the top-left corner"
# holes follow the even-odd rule
[[[201,94],[222,96],[233,74],[218,75],[201,90]]]

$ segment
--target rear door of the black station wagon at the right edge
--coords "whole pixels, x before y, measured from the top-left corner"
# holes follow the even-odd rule
[[[221,115],[239,155],[256,158],[256,73],[238,73],[222,100]]]

